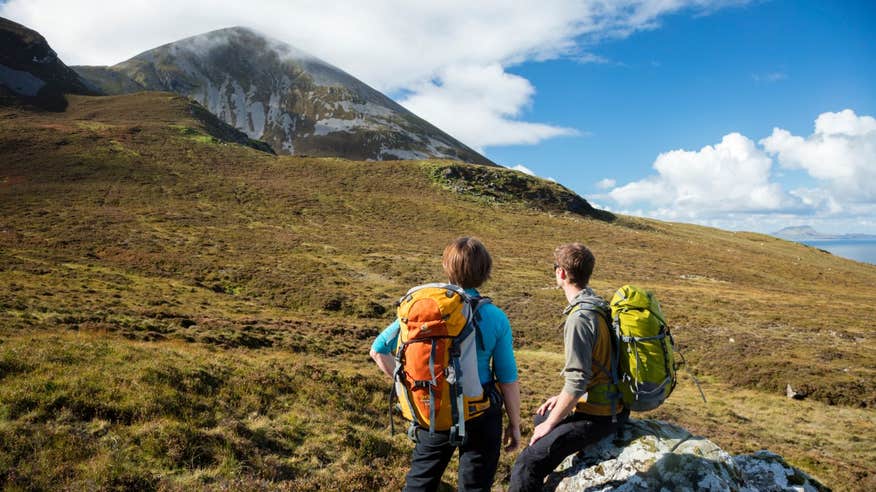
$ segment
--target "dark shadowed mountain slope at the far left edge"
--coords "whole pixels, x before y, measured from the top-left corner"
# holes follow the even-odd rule
[[[63,111],[64,94],[95,94],[38,32],[0,17],[0,104]]]

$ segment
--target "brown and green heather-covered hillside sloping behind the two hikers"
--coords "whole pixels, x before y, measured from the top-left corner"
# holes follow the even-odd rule
[[[552,251],[582,241],[600,293],[657,293],[704,383],[707,405],[683,376],[656,416],[837,489],[876,487],[874,266],[564,213],[545,206],[555,185],[512,171],[491,182],[526,192],[454,187],[449,162],[278,157],[168,94],[69,99],[61,114],[0,109],[7,487],[400,488],[410,446],[389,435],[367,349],[464,234],[494,255],[482,292],[511,319],[525,412],[561,387]]]

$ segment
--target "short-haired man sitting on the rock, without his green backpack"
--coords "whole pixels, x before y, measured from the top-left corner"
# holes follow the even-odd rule
[[[535,491],[566,456],[617,432],[629,417],[618,394],[608,303],[588,287],[596,259],[580,243],[554,251],[553,273],[569,302],[563,327],[562,391],[542,404],[529,447],[517,457],[510,491]]]

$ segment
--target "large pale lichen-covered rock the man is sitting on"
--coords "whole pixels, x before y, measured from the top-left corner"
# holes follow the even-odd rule
[[[545,490],[556,491],[823,491],[830,490],[769,451],[731,456],[716,444],[659,420],[630,419],[557,467]]]

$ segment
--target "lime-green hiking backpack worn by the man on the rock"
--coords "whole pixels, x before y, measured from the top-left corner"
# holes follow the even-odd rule
[[[678,381],[675,341],[660,304],[650,292],[625,285],[611,298],[611,318],[621,400],[635,412],[653,410]]]

